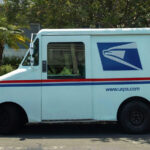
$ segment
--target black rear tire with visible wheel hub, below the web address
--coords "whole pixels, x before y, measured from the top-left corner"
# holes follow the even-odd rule
[[[122,107],[118,120],[128,133],[145,133],[150,127],[150,107],[141,101],[128,102]]]

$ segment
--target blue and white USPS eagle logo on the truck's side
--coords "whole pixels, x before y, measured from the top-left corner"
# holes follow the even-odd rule
[[[105,71],[142,70],[135,42],[97,43]]]

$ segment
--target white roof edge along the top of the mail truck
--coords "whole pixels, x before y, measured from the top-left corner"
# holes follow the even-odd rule
[[[42,29],[40,35],[149,35],[150,28]]]

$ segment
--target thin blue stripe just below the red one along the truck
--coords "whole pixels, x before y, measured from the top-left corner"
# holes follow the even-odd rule
[[[0,84],[0,87],[36,87],[36,86],[84,86],[84,85],[124,85],[124,84],[150,84],[150,81],[128,82],[75,82],[75,83],[31,83],[31,84]]]

